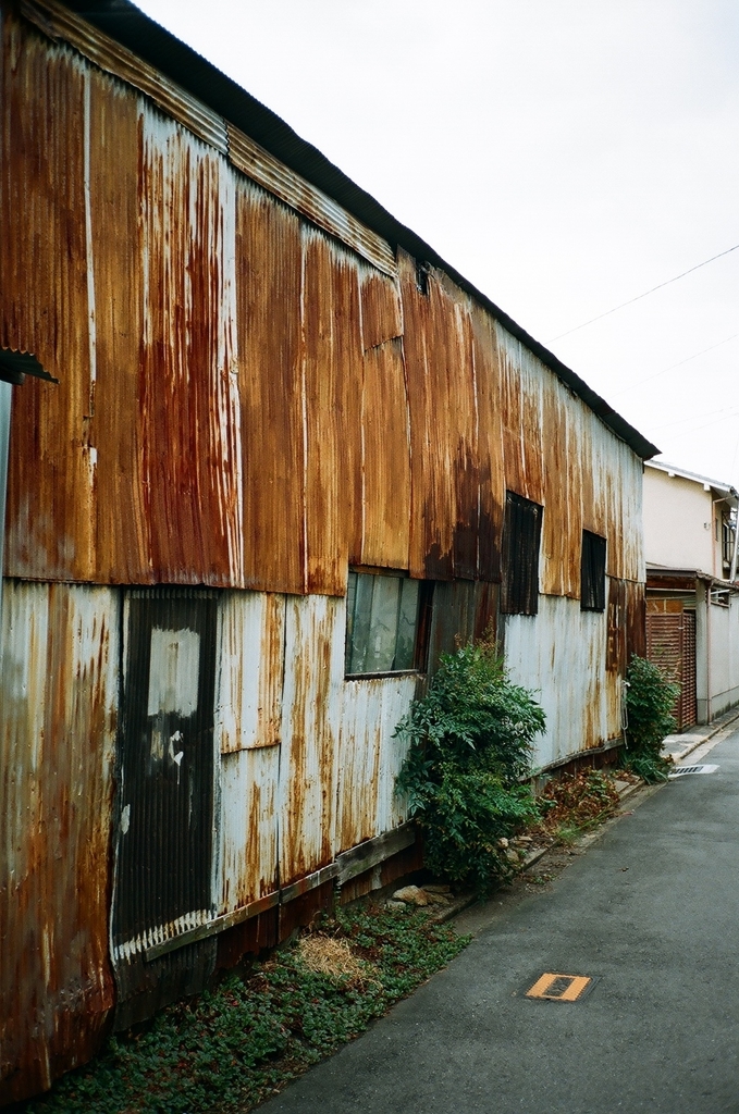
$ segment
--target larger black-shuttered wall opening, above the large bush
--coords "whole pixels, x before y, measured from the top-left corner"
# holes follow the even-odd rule
[[[538,610],[542,515],[537,502],[506,491],[500,610],[507,615],[536,615]]]

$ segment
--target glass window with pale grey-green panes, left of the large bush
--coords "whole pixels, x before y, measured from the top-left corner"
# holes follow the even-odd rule
[[[405,573],[349,573],[347,676],[426,671],[431,587]]]

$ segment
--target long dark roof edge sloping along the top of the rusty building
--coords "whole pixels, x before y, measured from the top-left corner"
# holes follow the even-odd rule
[[[270,154],[298,172],[391,245],[444,271],[453,282],[487,309],[642,460],[660,450],[621,417],[600,394],[534,340],[486,294],[459,274],[412,229],[400,224],[375,197],[358,186],[289,124],[216,66],[146,16],[132,0],[61,0],[64,6],[121,46],[156,67],[235,125]]]

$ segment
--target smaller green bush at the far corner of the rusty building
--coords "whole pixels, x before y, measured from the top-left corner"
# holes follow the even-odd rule
[[[662,742],[674,730],[672,707],[680,685],[672,684],[657,665],[634,654],[626,671],[626,753],[624,765],[644,781],[664,781],[670,762],[662,758]]]

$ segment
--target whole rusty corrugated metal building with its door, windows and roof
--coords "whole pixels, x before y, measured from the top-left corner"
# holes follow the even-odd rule
[[[457,638],[541,768],[618,741],[655,450],[132,4],[0,36],[0,348],[58,380],[10,419],[8,1102],[418,864],[395,729]]]

